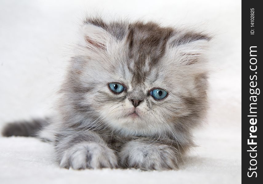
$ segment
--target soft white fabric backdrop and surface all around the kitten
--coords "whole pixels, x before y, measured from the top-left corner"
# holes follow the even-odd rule
[[[54,113],[78,22],[86,13],[193,26],[213,33],[206,122],[179,171],[60,169],[52,146],[0,137],[1,183],[240,183],[240,1],[0,1],[0,129]]]

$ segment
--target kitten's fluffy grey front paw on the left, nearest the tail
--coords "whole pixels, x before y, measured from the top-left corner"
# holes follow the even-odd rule
[[[95,142],[82,142],[69,148],[63,155],[60,167],[73,169],[97,169],[118,167],[114,151]]]

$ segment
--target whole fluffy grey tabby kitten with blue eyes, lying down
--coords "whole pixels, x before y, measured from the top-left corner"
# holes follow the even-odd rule
[[[152,22],[87,18],[59,116],[9,124],[3,135],[49,139],[64,168],[177,169],[207,107],[209,40]]]

